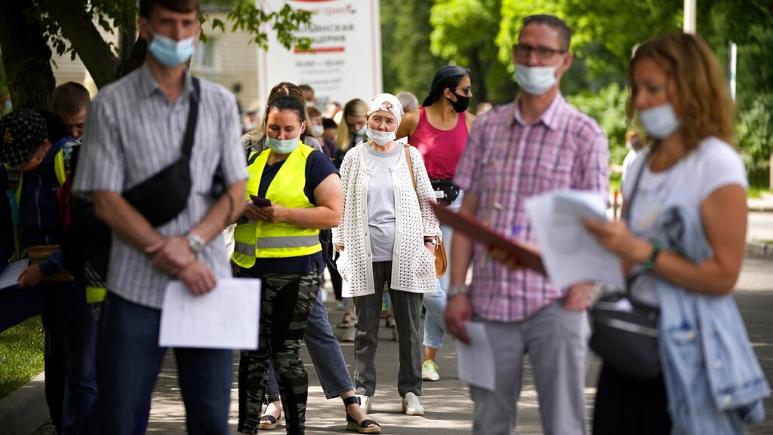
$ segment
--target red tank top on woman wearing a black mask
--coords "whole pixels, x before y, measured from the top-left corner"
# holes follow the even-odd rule
[[[458,114],[454,128],[438,130],[429,123],[427,113],[421,107],[416,131],[408,137],[408,143],[424,157],[430,180],[452,180],[467,145],[467,136],[469,132],[464,112]]]

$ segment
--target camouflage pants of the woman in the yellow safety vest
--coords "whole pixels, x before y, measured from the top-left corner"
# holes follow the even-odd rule
[[[249,272],[240,275],[254,276]],[[279,381],[287,433],[303,434],[309,378],[300,357],[301,340],[321,276],[307,272],[258,277],[262,279],[260,334],[258,349],[243,351],[239,359],[238,431],[257,432],[270,358]]]

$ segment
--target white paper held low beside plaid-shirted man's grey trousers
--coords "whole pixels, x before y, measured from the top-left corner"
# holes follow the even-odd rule
[[[458,340],[456,342],[459,379],[470,385],[494,391],[494,350],[486,335],[486,326],[480,322],[467,322],[464,326],[467,336],[470,337],[470,344]]]

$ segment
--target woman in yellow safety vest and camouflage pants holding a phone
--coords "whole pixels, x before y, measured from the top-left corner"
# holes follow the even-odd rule
[[[232,260],[237,276],[262,280],[262,294],[258,349],[244,352],[240,362],[249,368],[239,377],[242,433],[257,429],[257,416],[245,407],[263,397],[269,359],[285,398],[287,432],[304,433],[308,377],[299,352],[321,284],[319,230],[336,226],[343,208],[330,159],[300,140],[306,123],[305,107],[296,99],[269,102],[266,148],[248,158],[248,205],[234,231]]]

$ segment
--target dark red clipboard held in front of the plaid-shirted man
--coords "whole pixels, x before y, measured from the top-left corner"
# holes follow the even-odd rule
[[[504,234],[492,230],[478,222],[467,212],[460,211],[457,213],[439,204],[432,204],[432,209],[435,211],[435,216],[437,216],[438,220],[453,228],[454,231],[463,233],[473,242],[503,249],[515,255],[518,258],[518,262],[527,268],[547,276],[545,266],[542,264],[542,257],[536,248],[518,243]],[[446,243],[448,242],[450,240],[446,241]]]

